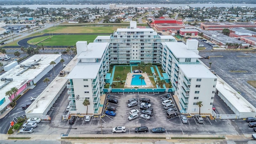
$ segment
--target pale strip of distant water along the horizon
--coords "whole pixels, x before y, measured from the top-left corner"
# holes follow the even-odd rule
[[[45,7],[45,8],[106,8],[109,9],[109,5],[0,5],[5,8],[12,8],[12,7],[26,7],[30,9],[36,9],[38,7]],[[120,6],[134,6],[134,7],[179,7],[179,6],[191,6],[193,8],[195,7],[232,7],[232,6],[247,6],[247,7],[256,7],[256,4],[137,4],[137,5],[116,5],[117,7]]]

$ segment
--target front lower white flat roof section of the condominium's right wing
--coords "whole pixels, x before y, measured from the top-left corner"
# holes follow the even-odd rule
[[[179,67],[188,78],[217,78],[202,64],[179,64]]]

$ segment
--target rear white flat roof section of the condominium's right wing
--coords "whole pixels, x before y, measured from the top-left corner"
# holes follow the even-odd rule
[[[188,50],[183,42],[163,42],[176,58],[201,58],[192,50]]]

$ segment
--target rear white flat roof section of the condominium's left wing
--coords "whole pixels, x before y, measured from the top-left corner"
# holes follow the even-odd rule
[[[81,52],[77,58],[102,58],[107,45],[108,42],[91,42],[87,45],[87,50]]]

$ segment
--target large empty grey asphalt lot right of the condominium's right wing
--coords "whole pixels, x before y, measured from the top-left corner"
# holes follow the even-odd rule
[[[232,88],[253,106],[256,106],[256,89],[247,83],[248,80],[256,80],[256,53],[252,52],[200,52],[200,56],[210,56],[210,59],[201,59],[226,81]],[[222,56],[222,57],[213,57]],[[246,70],[247,72],[230,72],[230,70]]]

